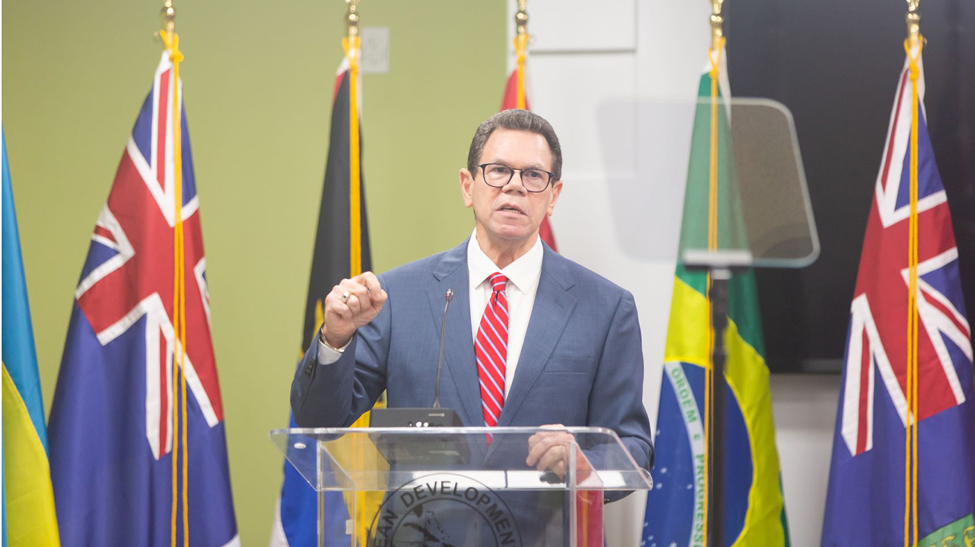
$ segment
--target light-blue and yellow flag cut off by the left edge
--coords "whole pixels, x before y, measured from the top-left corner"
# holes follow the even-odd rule
[[[3,139],[3,545],[59,545],[41,379]],[[9,542],[9,543],[8,543]]]

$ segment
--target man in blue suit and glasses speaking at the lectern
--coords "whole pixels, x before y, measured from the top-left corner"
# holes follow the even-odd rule
[[[653,461],[633,295],[538,237],[562,193],[562,149],[527,110],[487,119],[460,170],[473,236],[454,249],[342,280],[292,383],[303,427],[346,427],[387,390],[389,407],[434,401],[448,311],[441,405],[471,426],[601,426]],[[565,433],[536,436],[526,464],[565,471]]]

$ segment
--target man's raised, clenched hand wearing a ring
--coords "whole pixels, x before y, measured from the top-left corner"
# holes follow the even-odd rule
[[[372,272],[343,279],[325,297],[322,337],[334,348],[344,347],[356,330],[375,319],[387,294]]]

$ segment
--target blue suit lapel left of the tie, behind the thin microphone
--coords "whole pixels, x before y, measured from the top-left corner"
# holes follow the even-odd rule
[[[467,280],[467,241],[444,254],[434,268],[436,283],[428,290],[434,325],[440,333],[444,316],[445,295],[453,290],[453,300],[447,312],[447,333],[444,338],[444,368],[450,371],[454,387],[463,402],[463,422],[483,426],[481,391],[474,357],[474,338],[471,336],[470,296]],[[443,378],[442,378],[443,381]],[[443,389],[441,385],[441,389]]]

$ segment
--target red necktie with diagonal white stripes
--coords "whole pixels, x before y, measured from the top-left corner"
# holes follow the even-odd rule
[[[494,427],[504,408],[504,364],[508,360],[508,296],[504,287],[508,278],[494,273],[487,279],[491,294],[474,341],[474,354],[481,382],[481,410],[487,427]]]

